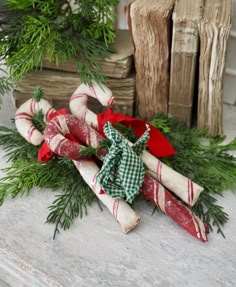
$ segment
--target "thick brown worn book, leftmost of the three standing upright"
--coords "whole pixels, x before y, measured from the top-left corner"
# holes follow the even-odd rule
[[[173,5],[174,0],[136,0],[127,11],[135,48],[137,115],[147,120],[168,110]]]

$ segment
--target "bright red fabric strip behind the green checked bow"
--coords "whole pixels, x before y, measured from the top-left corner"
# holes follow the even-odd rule
[[[113,113],[113,110],[109,108],[104,113],[98,114],[98,131],[103,136],[103,126],[106,122],[110,122],[111,124],[121,123],[128,128],[132,128],[138,138],[146,131],[146,125],[148,125],[150,127],[150,138],[147,147],[150,152],[156,157],[166,157],[176,154],[176,151],[163,134],[144,120]]]

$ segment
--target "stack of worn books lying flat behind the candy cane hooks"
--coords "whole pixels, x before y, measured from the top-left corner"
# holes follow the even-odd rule
[[[116,31],[115,53],[108,59],[101,60],[106,85],[115,97],[113,109],[127,115],[133,115],[135,100],[135,73],[133,63],[133,44],[127,30]],[[55,62],[44,61],[43,69],[27,74],[19,81],[14,90],[16,107],[33,96],[36,86],[44,91],[44,98],[56,108],[68,108],[69,99],[80,84],[77,64],[71,60],[57,66]],[[102,107],[96,100],[89,99],[88,106],[94,112],[102,112]]]

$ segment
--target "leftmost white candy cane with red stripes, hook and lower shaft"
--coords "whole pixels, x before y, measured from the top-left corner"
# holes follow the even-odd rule
[[[32,118],[34,114],[42,110],[44,113],[44,121],[47,122],[47,119],[51,113],[54,113],[56,110],[47,102],[46,100],[41,99],[39,102],[36,102],[35,99],[30,99],[19,107],[16,111],[16,128],[19,133],[31,144],[39,145],[42,143],[44,137],[43,135],[35,128]],[[63,134],[69,133],[67,124],[62,116],[59,123],[60,131]],[[72,124],[73,125],[73,124]],[[49,128],[50,130],[50,128]],[[87,131],[84,132],[85,137],[87,137]],[[57,141],[63,143],[64,137],[57,135],[51,142],[53,147],[57,146]],[[101,138],[100,138],[101,139]],[[91,138],[93,141],[93,139]],[[67,142],[68,143],[68,142]],[[70,145],[66,147],[70,149]],[[63,154],[63,149],[61,152]],[[71,150],[73,153],[73,149]],[[77,150],[75,151],[77,153]],[[67,154],[66,154],[67,155]],[[74,158],[70,156],[70,158]],[[124,233],[132,230],[139,222],[140,217],[133,211],[133,209],[124,201],[114,199],[107,194],[101,194],[101,188],[96,184],[95,175],[98,171],[98,167],[95,163],[86,160],[73,161],[78,171],[82,174],[84,180],[88,183],[91,189],[94,191],[96,196],[103,202],[103,204],[110,210],[112,215],[120,223],[121,228]],[[89,171],[89,172],[88,172]]]

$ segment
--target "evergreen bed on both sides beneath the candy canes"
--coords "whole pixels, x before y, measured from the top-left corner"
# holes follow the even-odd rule
[[[36,127],[41,127],[42,115],[34,116]],[[224,138],[208,139],[204,130],[190,129],[175,119],[158,114],[151,123],[172,143],[177,154],[162,158],[162,161],[181,174],[204,187],[192,210],[218,233],[228,215],[218,204],[223,191],[236,191],[236,138],[224,144]],[[135,141],[132,130],[118,124],[116,128],[129,140]],[[48,223],[55,224],[55,235],[60,229],[68,229],[77,217],[87,214],[87,209],[96,200],[95,194],[84,182],[72,161],[55,156],[47,163],[39,163],[39,147],[29,144],[16,129],[0,127],[0,145],[11,166],[3,169],[0,179],[0,205],[7,197],[27,196],[32,188],[51,189],[56,193],[49,206]],[[103,143],[109,146],[108,142]],[[96,151],[84,148],[84,154]],[[98,205],[99,201],[96,200]],[[100,205],[99,205],[100,206]],[[156,208],[155,208],[156,210]]]

